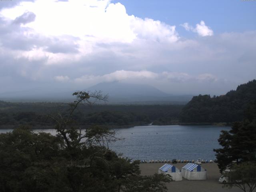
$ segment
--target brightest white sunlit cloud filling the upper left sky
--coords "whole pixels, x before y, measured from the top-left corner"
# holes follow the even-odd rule
[[[31,53],[36,49],[40,50],[39,59],[42,55],[47,58],[45,64],[80,60],[97,52],[98,44],[174,43],[179,39],[175,26],[130,16],[124,5],[111,3],[111,0],[20,2],[13,8],[1,10],[0,15],[6,20],[22,23],[19,30],[24,32],[19,34],[19,39],[31,40],[34,37],[33,47],[26,53],[20,52],[17,57],[33,55],[36,59],[36,54]],[[50,40],[54,39],[60,44],[50,45]]]

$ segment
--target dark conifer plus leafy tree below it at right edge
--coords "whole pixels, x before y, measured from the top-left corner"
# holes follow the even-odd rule
[[[252,192],[256,188],[256,101],[250,102],[241,122],[221,131],[218,142],[221,147],[214,152],[226,178],[224,187]]]

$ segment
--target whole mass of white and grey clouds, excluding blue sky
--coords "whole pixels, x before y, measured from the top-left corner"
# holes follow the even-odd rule
[[[49,84],[83,89],[98,82],[132,81],[170,92],[218,84],[211,91],[220,92],[230,90],[230,84],[219,83],[223,78],[234,84],[255,78],[256,31],[213,36],[201,21],[182,26],[212,37],[184,38],[175,26],[128,15],[124,5],[110,0],[13,5],[0,10],[0,77],[12,77],[15,88]],[[24,15],[28,12],[33,14]]]

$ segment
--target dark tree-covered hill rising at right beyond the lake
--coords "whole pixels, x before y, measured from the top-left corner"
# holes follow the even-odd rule
[[[194,96],[182,109],[182,123],[218,123],[241,121],[244,110],[256,99],[256,80],[241,84],[226,95]]]

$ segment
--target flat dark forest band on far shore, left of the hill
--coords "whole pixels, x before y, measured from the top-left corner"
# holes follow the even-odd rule
[[[44,115],[66,111],[67,103],[11,103],[0,102],[0,124],[51,126]],[[79,106],[74,119],[80,125],[132,126],[153,122],[155,125],[177,124],[182,105],[94,105]],[[4,128],[5,126],[3,126]]]

